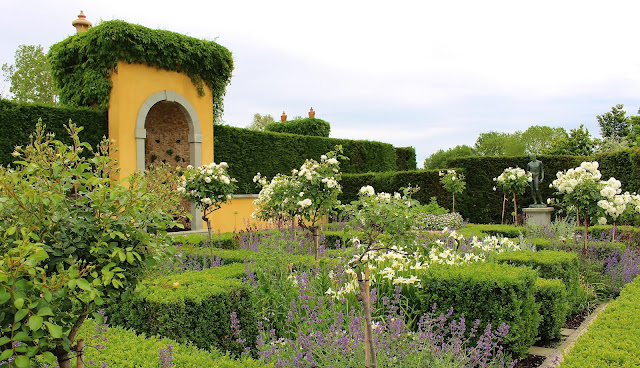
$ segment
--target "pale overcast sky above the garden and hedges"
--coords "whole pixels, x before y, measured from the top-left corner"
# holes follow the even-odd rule
[[[72,35],[80,10],[226,46],[229,125],[313,107],[332,137],[413,146],[419,166],[481,132],[598,135],[596,115],[640,107],[637,0],[0,0],[0,64]]]

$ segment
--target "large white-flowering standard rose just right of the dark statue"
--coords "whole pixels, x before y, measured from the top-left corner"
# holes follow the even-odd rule
[[[560,203],[576,211],[578,219],[584,221],[584,245],[587,246],[587,231],[590,223],[614,224],[627,208],[640,212],[640,196],[622,193],[622,184],[616,178],[600,180],[597,161],[583,162],[580,166],[559,171],[549,185],[561,196]]]

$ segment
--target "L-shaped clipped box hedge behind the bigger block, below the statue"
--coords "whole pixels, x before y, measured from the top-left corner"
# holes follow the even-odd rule
[[[498,254],[496,262],[514,266],[528,266],[536,270],[542,278],[562,280],[567,288],[567,300],[570,310],[577,311],[580,289],[577,254],[557,250],[541,250],[538,252],[519,250]]]

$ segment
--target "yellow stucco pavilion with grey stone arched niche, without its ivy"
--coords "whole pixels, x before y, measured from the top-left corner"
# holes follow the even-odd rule
[[[88,31],[91,23],[82,12],[72,24],[78,33],[94,31]],[[163,37],[161,32],[157,35]],[[118,61],[109,78],[112,87],[108,100],[108,131],[120,168],[117,179],[159,162],[198,167],[214,161],[215,94],[206,84],[198,86],[185,73],[160,69],[137,60]],[[244,229],[255,210],[253,200],[256,197],[235,195],[211,215],[214,230]],[[191,229],[202,229],[203,221],[193,204],[191,213]]]

